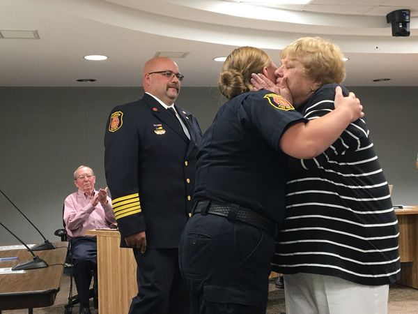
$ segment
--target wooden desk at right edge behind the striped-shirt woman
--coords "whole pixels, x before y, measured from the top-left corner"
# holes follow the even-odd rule
[[[399,223],[401,278],[398,283],[418,289],[418,206],[396,209]]]

